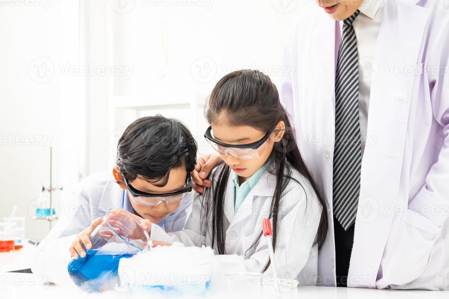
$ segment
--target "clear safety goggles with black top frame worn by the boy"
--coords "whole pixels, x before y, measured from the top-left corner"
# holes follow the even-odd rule
[[[192,191],[192,178],[190,177],[186,179],[185,186],[181,190],[163,194],[143,192],[131,186],[126,178],[123,178],[123,181],[125,182],[125,186],[129,191],[130,199],[135,204],[140,204],[147,207],[155,207],[163,201],[167,205],[176,204],[181,201],[184,193]]]

